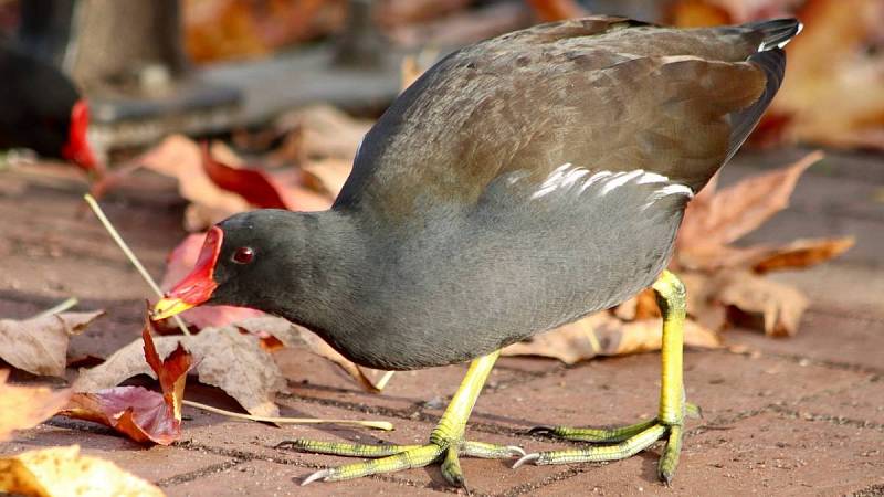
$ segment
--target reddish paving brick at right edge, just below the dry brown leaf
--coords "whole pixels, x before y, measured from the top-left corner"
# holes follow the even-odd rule
[[[728,331],[728,340],[761,352],[853,364],[884,371],[884,322],[873,318],[809,309],[794,337],[771,339],[746,330]]]

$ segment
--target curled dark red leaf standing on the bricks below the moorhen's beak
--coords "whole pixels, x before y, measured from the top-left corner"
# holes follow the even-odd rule
[[[141,387],[116,387],[84,393],[75,385],[78,392],[60,414],[105,424],[136,442],[168,445],[178,440],[181,436],[185,382],[193,358],[179,341],[166,359],[160,359],[150,329],[147,319],[141,330],[141,358],[159,379],[162,394]]]

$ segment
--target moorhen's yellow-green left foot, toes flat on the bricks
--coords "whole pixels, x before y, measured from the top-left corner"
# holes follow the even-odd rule
[[[302,452],[318,454],[377,457],[361,463],[352,463],[316,472],[307,476],[301,483],[302,486],[319,479],[323,482],[339,482],[378,473],[423,467],[440,462],[442,464],[442,476],[450,484],[464,487],[466,480],[461,470],[459,456],[503,459],[525,455],[525,451],[517,446],[449,438],[436,436],[435,433],[430,437],[430,443],[425,445],[369,445],[318,442],[299,438],[283,442],[277,445],[277,447],[294,448]]]

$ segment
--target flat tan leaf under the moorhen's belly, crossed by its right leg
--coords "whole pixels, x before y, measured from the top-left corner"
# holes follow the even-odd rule
[[[598,313],[570,325],[536,335],[503,349],[504,356],[540,356],[566,364],[597,356],[624,356],[660,350],[662,319],[627,322],[608,313]],[[717,348],[717,334],[687,320],[684,342],[692,347]]]

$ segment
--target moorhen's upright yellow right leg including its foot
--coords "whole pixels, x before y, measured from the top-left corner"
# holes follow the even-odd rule
[[[514,467],[529,462],[541,465],[624,459],[648,448],[659,440],[665,440],[666,446],[660,458],[659,473],[661,479],[666,483],[672,482],[682,448],[684,419],[698,415],[699,409],[684,400],[682,381],[684,285],[674,274],[664,271],[654,283],[653,288],[656,293],[657,304],[663,311],[662,381],[657,416],[653,420],[610,430],[566,426],[537,427],[533,430],[534,433],[548,433],[567,440],[608,445],[528,454],[516,462]]]

